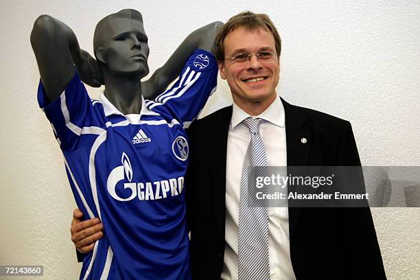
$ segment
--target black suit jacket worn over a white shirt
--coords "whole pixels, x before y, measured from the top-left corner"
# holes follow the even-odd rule
[[[281,101],[288,166],[360,165],[348,121]],[[231,115],[232,106],[222,108],[188,130],[185,186],[193,279],[220,279],[223,268],[226,145]],[[305,144],[301,143],[303,137]],[[289,207],[289,231],[298,280],[386,279],[369,208]]]

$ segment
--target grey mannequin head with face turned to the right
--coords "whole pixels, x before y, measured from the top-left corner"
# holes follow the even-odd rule
[[[148,75],[148,36],[141,13],[126,9],[102,19],[95,28],[93,50],[102,71],[106,67],[116,75]]]

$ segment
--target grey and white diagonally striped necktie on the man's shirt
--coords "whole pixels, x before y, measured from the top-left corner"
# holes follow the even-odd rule
[[[263,119],[248,117],[242,121],[249,129],[250,143],[242,166],[240,188],[240,218],[238,231],[239,280],[270,279],[268,259],[268,207],[266,200],[257,200],[255,178],[267,175],[264,142],[259,135]],[[248,185],[248,178],[253,180]]]

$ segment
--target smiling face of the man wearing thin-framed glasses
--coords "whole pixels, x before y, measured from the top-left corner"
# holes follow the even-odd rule
[[[228,82],[233,102],[250,115],[263,113],[275,101],[279,83],[279,52],[272,33],[240,26],[224,38],[223,46],[224,54],[218,55],[229,57],[219,60],[220,76]]]

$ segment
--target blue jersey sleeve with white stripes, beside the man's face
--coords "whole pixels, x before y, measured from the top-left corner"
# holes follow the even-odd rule
[[[218,63],[213,54],[197,49],[188,58],[178,80],[170,89],[145,102],[149,110],[176,119],[188,127],[216,89]]]

